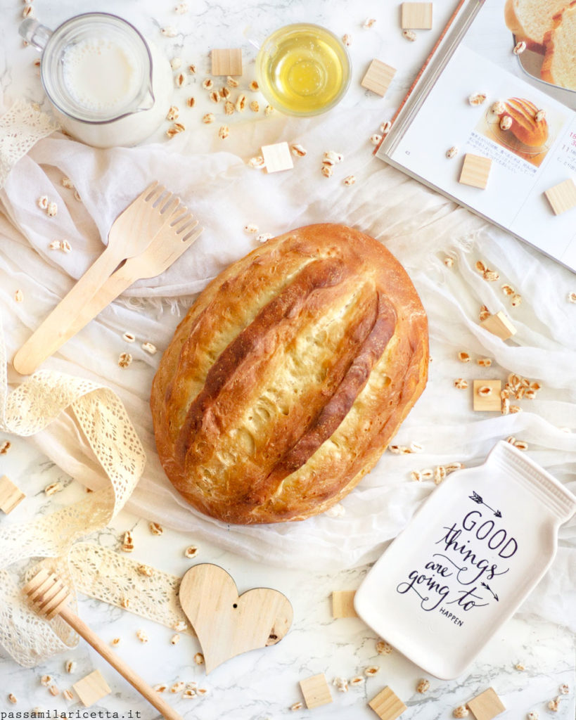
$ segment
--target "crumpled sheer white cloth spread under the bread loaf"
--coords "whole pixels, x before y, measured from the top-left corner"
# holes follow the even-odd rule
[[[44,367],[110,387],[124,402],[148,458],[127,508],[151,520],[263,562],[310,572],[336,570],[376,559],[433,492],[432,481],[410,479],[414,469],[449,462],[479,464],[493,444],[510,435],[529,444],[530,456],[576,492],[576,276],[440,195],[372,156],[369,135],[378,120],[365,110],[333,112],[314,120],[276,117],[235,126],[228,140],[199,148],[193,133],[168,144],[94,150],[54,134],[40,140],[12,170],[0,199],[0,312],[7,355],[14,352],[102,251],[122,209],[152,179],[179,194],[204,226],[197,243],[162,276],[140,281],[68,341]],[[376,125],[376,127],[374,127]],[[308,152],[294,169],[266,174],[246,164],[263,143],[299,142]],[[210,151],[209,151],[210,150]],[[334,176],[320,172],[325,150],[345,158]],[[356,183],[345,186],[345,176]],[[61,185],[68,176],[78,189]],[[37,206],[47,195],[58,203],[48,217]],[[207,282],[257,242],[243,231],[283,233],[312,222],[342,222],[372,235],[402,262],[428,312],[431,364],[428,387],[395,441],[423,446],[420,454],[385,453],[377,467],[341,503],[341,516],[271,526],[227,526],[189,507],[163,474],[148,407],[150,383],[161,351],[186,307]],[[48,249],[66,239],[70,253]],[[446,267],[446,255],[454,266]],[[481,259],[498,271],[486,282],[474,266]],[[511,307],[500,290],[508,283],[523,302]],[[20,289],[22,302],[14,301]],[[505,310],[518,329],[503,342],[480,328],[480,307]],[[127,344],[129,331],[136,342]],[[150,356],[140,347],[158,347]],[[457,359],[460,350],[472,362]],[[121,352],[134,361],[121,369]],[[475,363],[490,357],[490,368]],[[456,377],[495,378],[515,372],[542,385],[523,412],[502,416],[472,411],[471,390]],[[9,382],[21,378],[9,367]],[[561,428],[569,428],[569,432]],[[35,442],[59,467],[91,487],[102,487],[102,468],[68,415],[37,433]],[[523,611],[576,629],[576,518],[560,531],[552,569]]]

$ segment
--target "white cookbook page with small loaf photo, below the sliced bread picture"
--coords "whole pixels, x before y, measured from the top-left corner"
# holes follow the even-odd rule
[[[576,269],[576,186],[558,215],[544,194],[576,178],[576,93],[528,76],[515,43],[504,3],[487,0],[390,160]],[[485,188],[460,181],[467,153],[490,161]]]

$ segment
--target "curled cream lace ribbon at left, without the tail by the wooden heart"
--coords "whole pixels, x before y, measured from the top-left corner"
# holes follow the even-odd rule
[[[57,372],[38,372],[8,394],[0,324],[0,428],[29,436],[68,407],[110,485],[50,516],[0,529],[0,644],[26,667],[73,646],[78,638],[59,618],[48,623],[24,604],[21,588],[27,578],[17,582],[14,564],[49,558],[45,564],[72,589],[68,554],[73,543],[104,528],[122,508],[143,472],[145,454],[124,406],[105,387]],[[36,570],[29,569],[28,577]]]

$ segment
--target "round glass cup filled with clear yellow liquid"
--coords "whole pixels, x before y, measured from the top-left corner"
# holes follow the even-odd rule
[[[350,84],[350,59],[341,40],[320,25],[281,27],[256,58],[262,94],[280,112],[315,115],[334,107]]]

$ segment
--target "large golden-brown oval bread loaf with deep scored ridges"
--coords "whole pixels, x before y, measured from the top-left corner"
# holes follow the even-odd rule
[[[302,520],[374,466],[427,374],[426,314],[390,252],[299,228],[223,271],[176,329],[152,386],[158,454],[202,513]]]

